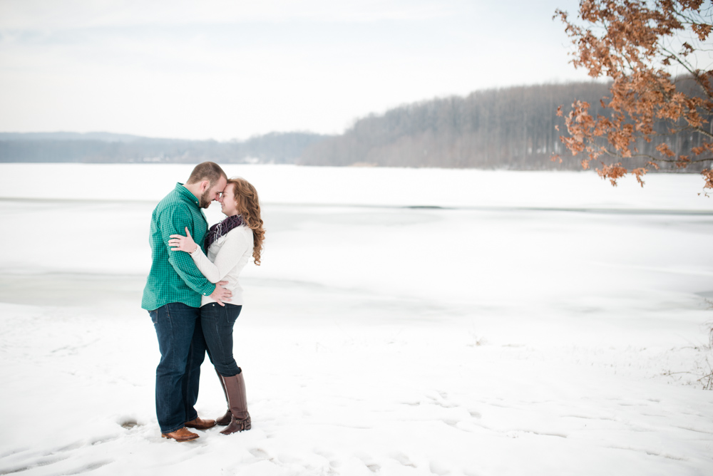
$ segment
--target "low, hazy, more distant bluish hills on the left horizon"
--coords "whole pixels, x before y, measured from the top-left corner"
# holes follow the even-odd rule
[[[0,162],[294,163],[330,136],[270,133],[244,141],[143,138],[111,133],[0,133]]]

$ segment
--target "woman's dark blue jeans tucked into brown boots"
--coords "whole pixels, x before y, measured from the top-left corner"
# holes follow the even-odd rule
[[[214,302],[200,308],[200,326],[203,329],[208,357],[215,370],[224,377],[240,373],[240,367],[232,356],[232,326],[240,316],[242,306]]]

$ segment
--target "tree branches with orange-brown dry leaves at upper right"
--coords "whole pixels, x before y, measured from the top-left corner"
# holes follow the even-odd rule
[[[553,18],[558,16],[575,48],[575,68],[612,81],[610,95],[601,100],[608,115],[593,118],[590,105],[575,100],[564,116],[567,135],[560,140],[573,155],[586,154],[585,169],[597,160],[597,173],[612,185],[632,174],[643,187],[642,176],[659,164],[684,169],[713,162],[713,128],[704,127],[713,118],[713,69],[709,55],[697,56],[707,51],[713,30],[710,1],[581,0],[577,19],[570,21],[559,9]],[[704,69],[697,65],[703,59]],[[674,77],[676,65],[684,77]],[[694,81],[695,90],[682,79]],[[561,106],[557,114],[564,115]],[[677,136],[695,137],[699,145],[674,151]],[[642,141],[658,143],[657,155],[640,153]],[[622,165],[632,159],[642,163]],[[703,170],[702,176],[704,188],[713,188],[713,171]]]

